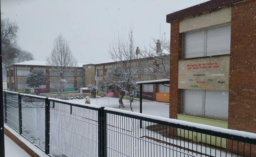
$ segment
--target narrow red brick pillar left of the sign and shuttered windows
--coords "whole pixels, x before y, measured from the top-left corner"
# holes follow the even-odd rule
[[[179,34],[179,20],[171,22],[170,38],[170,106],[169,117],[177,119],[181,108],[181,91],[178,89],[178,59],[182,56],[182,38]]]

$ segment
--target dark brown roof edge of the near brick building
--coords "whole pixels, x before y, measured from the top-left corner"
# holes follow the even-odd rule
[[[183,10],[179,10],[166,15],[166,22],[171,23],[172,21],[186,18],[195,14],[203,13],[205,11],[210,11],[214,9],[219,9],[221,7],[228,6],[232,3],[236,3],[242,0],[210,0],[201,4],[197,4],[193,7],[189,7]]]

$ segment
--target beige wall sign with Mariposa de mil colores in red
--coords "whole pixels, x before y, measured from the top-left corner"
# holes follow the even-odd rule
[[[179,89],[228,90],[229,56],[179,60]]]

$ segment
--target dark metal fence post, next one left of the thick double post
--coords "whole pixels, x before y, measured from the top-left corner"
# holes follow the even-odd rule
[[[45,99],[45,154],[50,153],[50,101]]]

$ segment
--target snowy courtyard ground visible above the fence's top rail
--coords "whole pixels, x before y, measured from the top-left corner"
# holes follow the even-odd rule
[[[94,98],[90,99],[91,104],[97,105],[100,107],[111,107],[111,108],[117,108],[117,109],[122,109],[126,111],[131,111],[130,108],[130,102],[129,100],[123,100],[124,102],[124,108],[119,108],[119,102],[118,98],[112,98],[112,97],[101,97],[101,98]],[[81,102],[85,103],[85,99],[74,99],[70,101],[75,101],[75,102]],[[132,102],[132,109],[134,112],[140,112],[140,101],[133,101]],[[169,103],[167,102],[157,102],[157,101],[151,101],[151,102],[142,102],[142,113],[143,114],[149,114],[149,115],[154,115],[154,116],[160,116],[160,117],[166,117],[169,118]]]

